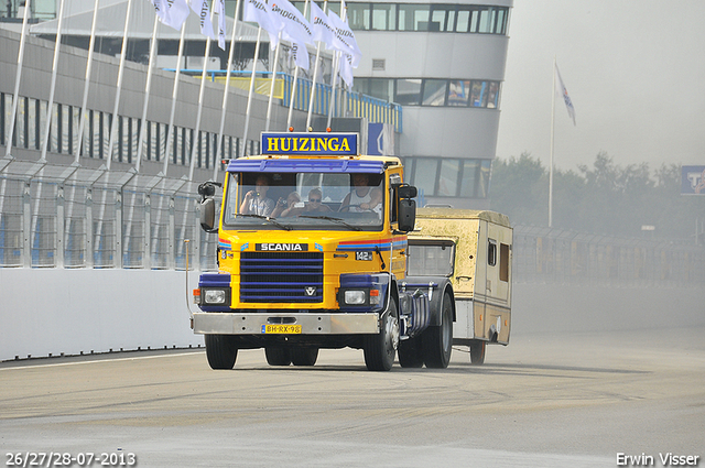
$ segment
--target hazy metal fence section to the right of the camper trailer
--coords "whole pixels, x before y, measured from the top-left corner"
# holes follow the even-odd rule
[[[705,286],[705,249],[684,242],[616,238],[516,226],[514,281],[612,286]]]

